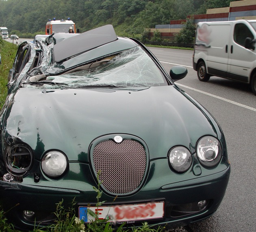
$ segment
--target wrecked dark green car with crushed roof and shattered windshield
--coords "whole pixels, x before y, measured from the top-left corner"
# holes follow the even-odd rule
[[[106,25],[19,45],[0,111],[0,205],[16,228],[75,198],[113,224],[171,227],[218,208],[230,175],[215,119],[139,41]],[[99,175],[100,183],[97,181]],[[100,185],[96,207],[93,186]]]

